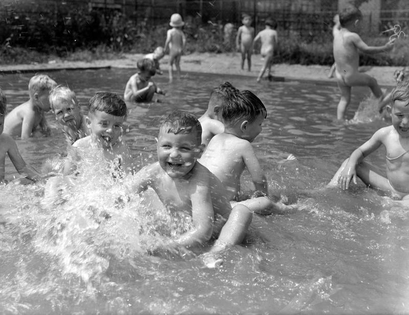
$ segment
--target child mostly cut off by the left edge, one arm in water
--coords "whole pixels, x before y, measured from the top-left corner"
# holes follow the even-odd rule
[[[5,177],[5,159],[9,156],[17,172],[22,176],[36,182],[41,175],[21,158],[18,152],[17,144],[9,134],[3,132],[4,115],[6,113],[6,96],[0,89],[0,183],[4,182]]]

